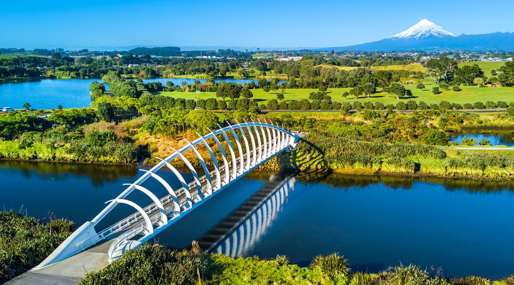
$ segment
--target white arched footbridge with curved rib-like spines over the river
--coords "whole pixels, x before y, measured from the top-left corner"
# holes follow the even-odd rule
[[[161,161],[152,169],[142,170],[145,173],[139,179],[132,184],[125,184],[127,188],[118,197],[107,201],[108,205],[93,220],[85,222],[32,271],[74,256],[105,240],[112,240],[107,254],[108,262],[113,262],[126,250],[139,247],[271,157],[283,151],[296,149],[300,139],[299,133],[289,132],[272,122],[261,123],[260,120],[258,122],[251,120],[251,123],[245,121],[242,124],[237,122],[237,125],[228,124],[228,127],[209,131],[207,135],[198,135],[196,140],[188,141],[185,147],[174,150],[175,152],[167,158],[159,158]],[[223,161],[223,164],[218,164],[209,142],[219,149],[220,161]],[[223,147],[222,142],[228,150]],[[197,150],[198,145],[203,146],[209,153],[209,159],[214,166],[213,171],[208,169],[206,160]],[[184,155],[187,151],[192,151],[199,160],[204,175],[200,176],[193,168]],[[193,181],[188,183],[173,167],[170,162],[174,159],[180,159],[185,163],[193,176]],[[173,189],[159,175],[158,171],[162,167],[169,168],[174,173],[182,186],[180,189]],[[158,198],[151,190],[142,187],[141,183],[149,178],[157,180],[167,190],[168,195]],[[142,208],[128,199],[128,194],[134,190],[144,193],[152,203]],[[120,204],[133,207],[135,213],[110,227],[97,231],[95,226]]]

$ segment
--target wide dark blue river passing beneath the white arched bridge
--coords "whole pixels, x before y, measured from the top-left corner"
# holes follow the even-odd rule
[[[179,186],[171,172],[159,173],[172,187]],[[45,220],[56,215],[80,226],[124,190],[123,183],[141,175],[133,166],[0,161],[0,207]],[[191,245],[269,185],[272,177],[248,174],[156,240],[177,248]],[[300,266],[307,266],[315,255],[338,252],[354,270],[369,272],[401,261],[440,267],[452,277],[498,279],[514,273],[511,182],[340,174],[273,179],[287,179],[287,187],[263,201],[254,215],[256,223],[243,222],[249,227],[247,234],[229,233],[218,247],[221,252],[268,259],[285,254]],[[143,186],[157,196],[166,194],[151,179]],[[128,198],[141,206],[150,203],[142,193]],[[106,225],[133,212],[128,206],[117,208],[119,212],[107,215]]]

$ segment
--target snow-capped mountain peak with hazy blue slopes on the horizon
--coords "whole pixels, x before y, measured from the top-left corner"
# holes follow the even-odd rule
[[[423,19],[409,29],[376,42],[346,47],[315,49],[353,51],[443,51],[443,50],[514,50],[514,33],[489,33],[479,35],[455,35],[442,27]]]

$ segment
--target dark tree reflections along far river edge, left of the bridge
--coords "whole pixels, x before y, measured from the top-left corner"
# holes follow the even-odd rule
[[[32,175],[60,176],[75,174],[91,178],[93,185],[101,186],[104,181],[115,181],[120,177],[135,177],[135,165],[72,164],[65,162],[2,160],[0,168],[19,169],[25,178]]]

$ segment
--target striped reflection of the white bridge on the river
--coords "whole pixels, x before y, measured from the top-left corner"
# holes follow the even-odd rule
[[[245,255],[278,216],[295,186],[295,175],[279,173],[198,239],[200,248],[231,257]]]

